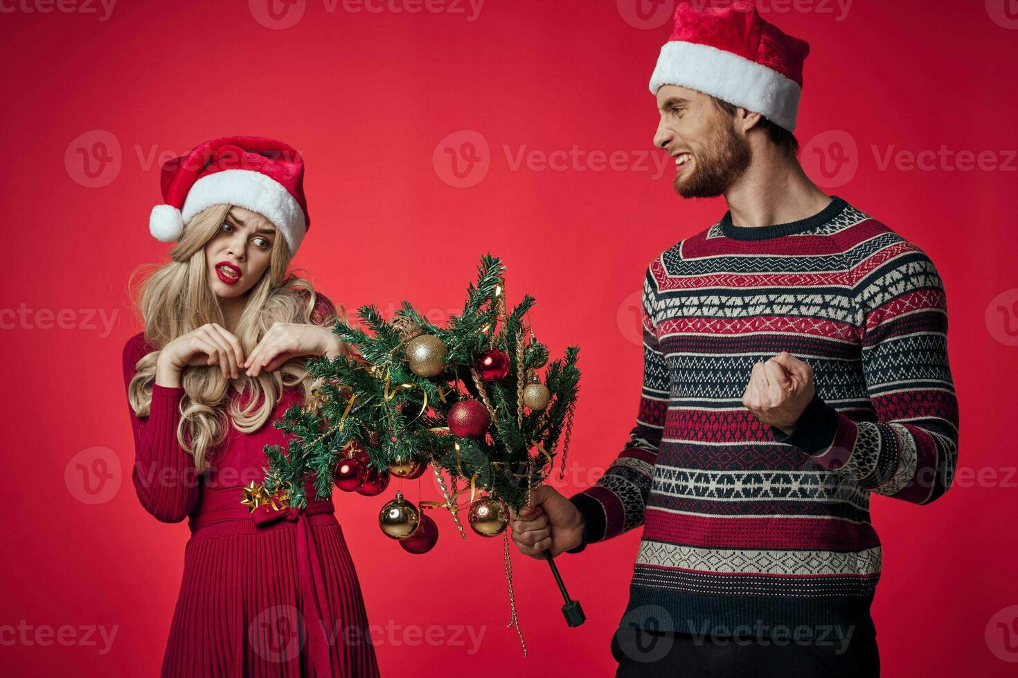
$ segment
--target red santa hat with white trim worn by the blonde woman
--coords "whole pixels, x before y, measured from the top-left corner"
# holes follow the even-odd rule
[[[180,238],[184,224],[214,204],[257,211],[279,229],[291,256],[310,218],[304,199],[304,161],[282,141],[227,136],[199,144],[163,164],[160,183],[166,204],[152,208],[149,230],[157,240]]]

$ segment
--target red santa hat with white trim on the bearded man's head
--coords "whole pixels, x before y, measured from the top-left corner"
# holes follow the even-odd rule
[[[696,89],[792,132],[807,54],[807,42],[765,21],[752,2],[702,9],[681,2],[651,76],[651,94],[663,84]]]

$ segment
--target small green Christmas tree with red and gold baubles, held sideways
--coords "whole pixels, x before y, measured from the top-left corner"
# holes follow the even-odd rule
[[[508,507],[518,511],[528,502],[529,489],[552,473],[560,443],[565,468],[579,349],[570,346],[549,363],[548,347],[526,322],[534,299],[525,295],[507,311],[504,273],[498,258],[482,257],[463,312],[445,327],[407,302],[390,319],[375,306],[361,307],[357,317],[366,331],[337,322],[333,333],[357,353],[307,361],[318,384],[314,402],[290,407],[274,423],[292,437],[285,450],[266,446],[271,466],[265,483],[246,488],[244,503],[252,509],[260,503],[305,506],[308,481],[319,499],[328,498],[334,485],[379,494],[390,475],[417,478],[430,466],[444,500],[414,507],[397,492],[380,527],[405,550],[423,553],[437,533],[419,508],[442,506],[465,538],[457,498],[469,491],[470,527],[485,537],[503,536],[511,624],[522,643],[505,534]],[[482,492],[487,496],[474,500]],[[582,610],[569,599],[551,553],[545,556],[565,600],[566,620],[577,626]]]

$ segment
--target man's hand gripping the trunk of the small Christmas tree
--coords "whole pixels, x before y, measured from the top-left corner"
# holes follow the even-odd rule
[[[530,494],[530,506],[512,516],[512,541],[520,553],[543,558],[545,549],[552,556],[574,549],[583,540],[583,516],[573,502],[554,487],[540,485]]]

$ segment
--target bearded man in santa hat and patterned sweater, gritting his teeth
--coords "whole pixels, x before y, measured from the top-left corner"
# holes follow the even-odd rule
[[[618,676],[876,676],[870,493],[950,486],[944,288],[917,246],[828,196],[792,132],[809,47],[753,5],[680,4],[651,80],[683,197],[729,211],[644,278],[625,449],[514,516],[534,557],[643,526]]]

